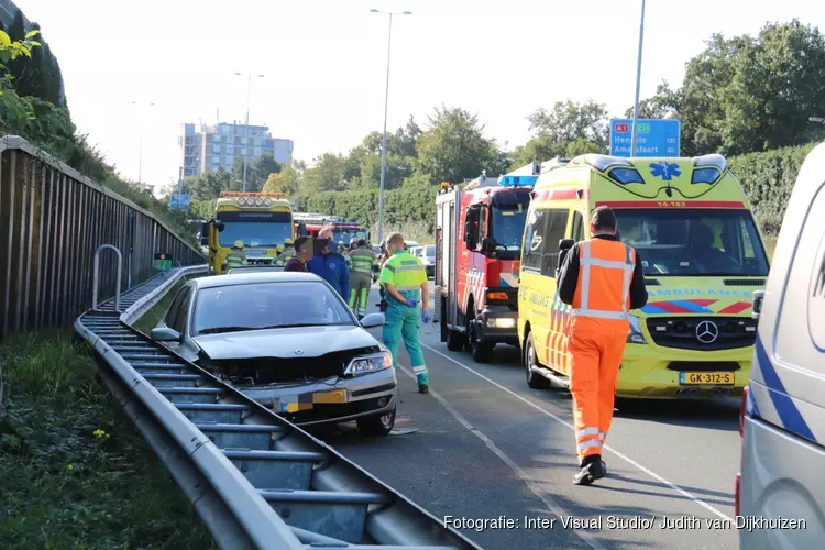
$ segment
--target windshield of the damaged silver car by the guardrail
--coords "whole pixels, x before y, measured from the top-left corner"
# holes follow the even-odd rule
[[[193,334],[333,324],[354,321],[322,282],[254,283],[201,288]]]

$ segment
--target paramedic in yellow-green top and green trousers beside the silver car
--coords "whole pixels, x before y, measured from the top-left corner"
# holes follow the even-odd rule
[[[418,393],[429,393],[429,374],[425,366],[421,344],[418,341],[419,317],[425,324],[430,322],[429,287],[424,264],[404,248],[404,237],[393,233],[387,237],[389,257],[381,270],[381,284],[386,288],[387,310],[384,314],[384,345],[393,354],[393,363],[398,364],[398,345],[409,353],[413,373],[418,380]],[[421,310],[418,304],[421,302]]]

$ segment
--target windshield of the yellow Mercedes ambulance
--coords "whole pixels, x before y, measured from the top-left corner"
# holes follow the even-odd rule
[[[744,209],[616,209],[619,238],[639,251],[645,275],[768,275],[768,258]]]

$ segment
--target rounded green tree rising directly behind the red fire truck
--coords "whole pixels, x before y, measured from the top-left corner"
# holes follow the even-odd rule
[[[436,109],[430,128],[418,139],[418,167],[431,184],[461,183],[487,170],[501,174],[506,168],[504,154],[495,141],[484,136],[484,125],[475,114],[461,108]]]

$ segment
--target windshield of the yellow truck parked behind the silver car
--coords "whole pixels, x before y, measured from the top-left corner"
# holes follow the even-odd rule
[[[293,222],[286,212],[221,212],[221,246],[243,241],[244,246],[277,246],[293,238]]]

